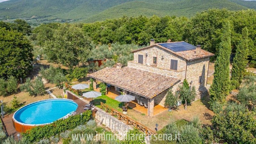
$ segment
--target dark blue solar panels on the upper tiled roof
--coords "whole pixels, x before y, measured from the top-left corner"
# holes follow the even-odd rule
[[[176,42],[176,43],[163,43],[159,44],[167,49],[170,49],[174,52],[182,52],[182,51],[189,51],[189,50],[195,50],[196,46],[192,44],[188,44],[186,42]]]

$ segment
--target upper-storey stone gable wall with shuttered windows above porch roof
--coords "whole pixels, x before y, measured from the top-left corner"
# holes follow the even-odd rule
[[[146,53],[148,53],[147,57]],[[143,64],[138,64],[139,54],[143,55]],[[150,66],[153,64],[153,57],[156,57],[156,66]],[[177,71],[170,69],[171,59],[178,60]],[[185,77],[186,60],[169,51],[159,48],[158,46],[154,46],[148,49],[134,52],[134,61],[128,62],[128,66],[160,73],[163,75]]]

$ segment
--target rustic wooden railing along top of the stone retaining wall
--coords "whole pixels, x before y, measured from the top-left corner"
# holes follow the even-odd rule
[[[100,108],[101,109],[105,109],[106,112],[110,112],[112,116],[117,116],[117,118],[119,120],[124,120],[126,122],[126,124],[129,125],[133,125],[135,128],[137,128],[138,130],[141,130],[142,132],[144,132],[146,135],[152,135],[152,134],[156,134],[155,132],[153,132],[152,130],[150,130],[148,127],[146,127],[145,125],[131,119],[128,116],[125,116],[124,114],[116,111],[115,109],[109,107],[108,105],[100,102]]]

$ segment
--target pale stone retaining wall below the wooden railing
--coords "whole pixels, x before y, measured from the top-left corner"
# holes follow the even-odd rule
[[[109,115],[105,111],[100,108],[96,108],[98,111],[96,112],[95,118],[99,121],[99,123],[106,125],[112,132],[119,134],[119,139],[122,140],[126,136],[129,130],[132,130],[127,124],[124,124],[122,121],[118,120],[114,116]]]

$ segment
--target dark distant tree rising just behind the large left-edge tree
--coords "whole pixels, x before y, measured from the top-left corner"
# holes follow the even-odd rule
[[[14,20],[15,30],[21,32],[23,35],[30,35],[31,34],[31,26],[25,21],[21,19]]]

